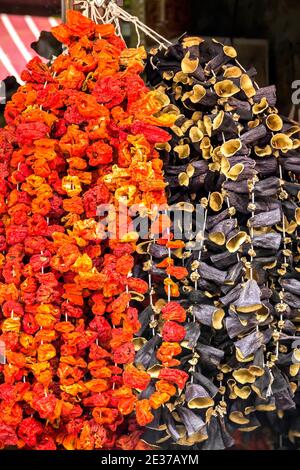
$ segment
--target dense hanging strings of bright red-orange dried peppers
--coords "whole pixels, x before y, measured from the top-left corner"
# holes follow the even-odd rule
[[[106,240],[97,208],[119,220],[166,202],[154,146],[174,115],[139,77],[144,49],[112,25],[69,12],[52,32],[67,51],[29,62],[0,129],[0,447],[141,449],[140,426],[187,379],[172,368],[185,315],[164,308],[164,367],[139,400],[151,376],[134,365],[131,301],[148,291],[132,276],[137,234]]]

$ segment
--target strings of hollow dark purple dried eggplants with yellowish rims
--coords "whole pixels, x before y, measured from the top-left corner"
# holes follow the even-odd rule
[[[300,128],[278,114],[275,87],[259,88],[255,70],[218,41],[185,37],[167,51],[152,50],[146,71],[179,112],[172,140],[158,147],[168,202],[192,213],[194,224],[199,205],[204,217],[193,227],[197,236],[185,232],[184,248],[172,256],[173,266],[188,270],[178,302],[187,312],[179,360],[189,380],[144,439],[222,449],[233,445],[235,431],[255,430],[266,416],[279,433],[288,432],[288,416],[294,439]],[[157,245],[148,253],[159,313],[160,267],[170,254]],[[143,336],[151,335],[145,327]]]

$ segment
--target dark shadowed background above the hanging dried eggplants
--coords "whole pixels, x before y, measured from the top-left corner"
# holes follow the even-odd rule
[[[291,84],[300,80],[300,0],[166,0],[164,23],[159,22],[160,4],[161,0],[146,1],[148,22],[169,37],[188,31],[234,43],[234,38],[265,40],[267,70],[261,70],[259,85],[276,84],[278,105],[285,114],[290,112]],[[245,41],[240,50],[235,46],[244,66],[261,69],[261,47],[254,47],[253,41],[249,46]]]

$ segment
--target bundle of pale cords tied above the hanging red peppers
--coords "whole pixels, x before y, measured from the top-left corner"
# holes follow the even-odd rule
[[[74,5],[78,5],[84,14],[89,16],[95,23],[114,23],[117,34],[122,38],[120,20],[132,23],[138,38],[137,47],[141,44],[140,32],[151,38],[163,49],[168,49],[172,45],[170,41],[146,26],[139,18],[123,10],[114,0],[108,2],[107,0],[78,0]],[[103,9],[104,13],[101,13],[100,9]]]

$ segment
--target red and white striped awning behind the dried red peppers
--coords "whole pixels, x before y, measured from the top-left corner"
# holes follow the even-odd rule
[[[50,31],[57,24],[56,18],[0,14],[0,80],[13,75],[22,83],[20,74],[36,55],[30,44],[41,31]]]

